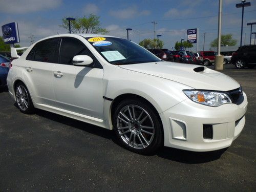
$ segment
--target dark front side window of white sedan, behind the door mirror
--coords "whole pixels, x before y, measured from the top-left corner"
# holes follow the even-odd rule
[[[69,37],[62,38],[60,45],[59,63],[73,65],[72,60],[76,55],[88,55],[92,57],[91,52],[80,40]],[[92,59],[94,60],[93,57]]]

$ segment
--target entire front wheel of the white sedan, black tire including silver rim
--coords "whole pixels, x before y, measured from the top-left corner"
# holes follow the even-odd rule
[[[114,113],[114,132],[129,151],[149,155],[163,145],[163,129],[157,112],[141,100],[123,100]]]

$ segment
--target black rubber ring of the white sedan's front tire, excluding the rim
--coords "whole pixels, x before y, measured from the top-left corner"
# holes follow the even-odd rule
[[[117,116],[118,116],[118,113],[120,112],[120,110],[124,106],[129,105],[129,104],[135,104],[135,105],[140,106],[151,116],[151,118],[153,120],[154,127],[155,127],[155,135],[154,135],[154,139],[153,139],[152,143],[149,146],[147,146],[146,148],[136,149],[136,148],[133,148],[133,147],[127,145],[122,140],[121,136],[118,133],[118,130],[117,130]],[[126,148],[129,151],[138,153],[138,154],[142,154],[142,155],[153,154],[163,144],[163,129],[162,129],[161,122],[160,122],[159,118],[157,117],[155,110],[152,110],[152,106],[143,102],[143,101],[141,101],[141,100],[137,100],[137,99],[123,100],[118,104],[118,106],[117,106],[117,108],[114,112],[113,130],[114,130],[114,132],[117,136],[117,139],[118,139],[119,143],[124,148]]]

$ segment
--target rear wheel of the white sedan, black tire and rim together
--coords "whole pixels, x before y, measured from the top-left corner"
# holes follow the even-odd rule
[[[15,97],[19,111],[25,114],[31,114],[34,112],[35,108],[32,99],[24,83],[18,82],[16,84]]]

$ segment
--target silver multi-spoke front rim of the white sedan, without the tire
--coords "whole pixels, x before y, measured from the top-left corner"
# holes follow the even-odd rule
[[[155,127],[151,116],[140,106],[124,106],[117,116],[117,130],[122,140],[136,149],[143,149],[154,139]]]

